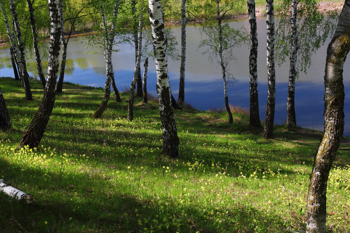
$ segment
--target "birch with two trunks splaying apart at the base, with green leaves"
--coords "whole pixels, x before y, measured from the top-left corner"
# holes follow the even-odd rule
[[[119,0],[115,0],[113,6],[110,6],[109,4],[111,4],[111,2],[99,2],[99,10],[103,28],[101,28],[102,30],[100,30],[100,28],[97,28],[97,30],[99,30],[99,34],[90,35],[86,37],[88,43],[87,46],[94,46],[103,49],[102,54],[104,55],[106,62],[105,93],[103,96],[102,103],[100,104],[96,112],[91,116],[92,118],[102,117],[102,114],[107,107],[107,103],[111,95],[111,84],[114,90],[116,101],[121,102],[119,91],[114,82],[114,71],[112,64],[112,52],[117,51],[113,49],[113,45],[116,44],[115,39],[118,31],[120,30],[120,25],[118,24]],[[107,7],[107,14],[105,12],[105,6]]]

